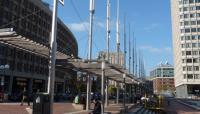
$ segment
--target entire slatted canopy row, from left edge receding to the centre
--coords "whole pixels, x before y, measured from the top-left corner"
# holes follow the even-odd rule
[[[18,35],[12,28],[0,29],[0,43],[10,45],[22,50],[26,50],[31,53],[35,53],[41,56],[49,57],[49,47],[34,42],[33,40]],[[102,73],[102,61],[98,60],[81,60],[71,59],[70,56],[61,52],[56,52],[56,68],[59,69],[73,69],[77,71],[87,72],[96,76],[101,76]],[[105,76],[110,80],[123,83],[123,74],[126,74],[125,82],[128,84],[137,83],[138,81],[133,76],[129,75],[123,67],[116,64],[106,63]]]

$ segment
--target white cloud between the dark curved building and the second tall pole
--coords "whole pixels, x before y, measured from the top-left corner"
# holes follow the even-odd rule
[[[89,23],[88,22],[82,22],[82,23],[70,23],[67,24],[68,27],[75,32],[84,32],[87,31],[89,28]]]

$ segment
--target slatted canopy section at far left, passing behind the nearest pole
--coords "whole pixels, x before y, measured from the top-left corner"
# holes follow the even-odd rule
[[[31,53],[49,57],[49,47],[37,43],[29,38],[18,35],[12,28],[0,29],[0,43],[10,45]],[[56,52],[57,59],[66,59],[68,56],[61,52]]]

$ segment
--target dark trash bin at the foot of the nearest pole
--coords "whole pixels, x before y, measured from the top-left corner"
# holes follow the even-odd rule
[[[38,93],[33,98],[32,114],[49,114],[50,97],[47,93]]]

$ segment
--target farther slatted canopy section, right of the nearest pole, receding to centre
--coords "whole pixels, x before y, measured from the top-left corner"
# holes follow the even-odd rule
[[[81,60],[81,59],[68,59],[62,60],[58,59],[56,61],[57,68],[66,68],[66,69],[74,69],[77,71],[87,72],[89,74],[93,74],[96,76],[101,76],[102,73],[102,61],[99,60]],[[105,67],[105,76],[110,80],[114,80],[120,83],[123,83],[124,77],[123,74],[126,74],[125,82],[127,84],[137,83],[137,80],[133,78],[133,76],[129,75],[123,67],[116,64],[106,63]]]

